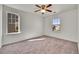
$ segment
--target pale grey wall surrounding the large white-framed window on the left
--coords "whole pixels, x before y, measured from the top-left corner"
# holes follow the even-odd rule
[[[20,14],[21,33],[20,34],[6,34],[6,12],[15,12]],[[42,18],[36,14],[23,12],[14,8],[3,6],[3,39],[2,44],[13,43],[21,40],[26,40],[32,37],[42,35]]]

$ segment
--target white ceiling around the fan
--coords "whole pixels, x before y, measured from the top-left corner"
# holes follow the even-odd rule
[[[40,12],[34,12],[35,10],[38,9],[38,7],[36,7],[34,4],[6,4],[9,7],[13,7],[22,11],[26,11],[26,12],[31,12],[31,13],[35,13],[35,14],[39,14],[41,15]],[[75,4],[52,4],[51,7],[49,7],[50,10],[52,10],[53,12],[56,13],[60,13],[66,10],[70,10],[70,9],[74,9],[76,8],[77,5]],[[52,15],[53,12],[47,12],[44,14],[44,16],[48,16],[48,15]]]

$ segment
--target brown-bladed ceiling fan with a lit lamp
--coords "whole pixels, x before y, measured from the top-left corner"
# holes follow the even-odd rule
[[[48,4],[48,5],[35,5],[36,7],[40,8],[38,10],[35,10],[35,12],[40,11],[42,14],[44,14],[46,11],[47,12],[52,12],[52,10],[49,10],[48,7],[52,6],[52,4]]]

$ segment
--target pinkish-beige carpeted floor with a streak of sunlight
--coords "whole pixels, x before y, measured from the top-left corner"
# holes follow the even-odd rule
[[[40,37],[5,45],[0,54],[77,54],[77,43],[52,37]]]

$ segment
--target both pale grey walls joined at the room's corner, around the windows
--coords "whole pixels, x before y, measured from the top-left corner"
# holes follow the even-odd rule
[[[20,34],[6,34],[6,12],[15,12],[20,14]],[[36,14],[3,6],[2,44],[9,44],[41,35],[48,35],[77,42],[77,9],[59,13],[58,16],[61,18],[61,31],[53,32],[51,30],[52,16],[42,18]]]

